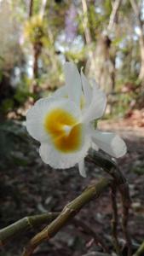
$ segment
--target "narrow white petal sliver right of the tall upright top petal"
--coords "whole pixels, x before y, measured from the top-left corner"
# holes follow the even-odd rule
[[[86,107],[88,107],[92,99],[92,88],[90,87],[89,81],[84,76],[84,73],[82,70],[81,70],[81,79],[82,79],[82,85],[84,90],[85,104],[86,104]]]

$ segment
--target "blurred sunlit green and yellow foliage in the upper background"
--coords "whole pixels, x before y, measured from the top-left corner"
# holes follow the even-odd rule
[[[43,3],[38,0],[28,3],[2,0],[0,3],[0,110],[3,115],[23,107],[30,97],[36,101],[38,97],[46,96],[64,84],[64,61],[74,61],[79,69],[87,67],[87,75],[91,77],[91,67],[87,65],[92,62],[89,52],[91,50],[94,54],[96,73],[100,69],[96,58],[101,52],[97,50],[97,45],[102,45],[101,35],[107,34],[110,44],[104,45],[102,57],[114,63],[113,91],[116,94],[111,102],[110,116],[124,116],[130,102],[136,102],[136,98],[141,97],[141,83],[138,80],[141,51],[130,2],[121,3],[111,32],[107,32],[112,13],[110,0],[86,1],[86,13],[82,1]],[[68,21],[71,22],[67,25]],[[86,29],[90,35],[89,44],[86,43]],[[37,79],[33,74],[34,61],[38,69]],[[16,69],[19,73],[15,73]],[[129,83],[133,84],[134,91],[129,90]],[[123,93],[127,86],[127,93]],[[135,90],[135,86],[139,89]]]

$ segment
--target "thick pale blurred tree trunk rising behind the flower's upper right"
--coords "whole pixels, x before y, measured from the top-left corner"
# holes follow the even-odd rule
[[[82,0],[85,3],[85,0]],[[92,52],[93,58],[89,58],[88,70],[86,70],[90,76],[94,77],[95,80],[100,84],[101,88],[111,93],[115,87],[115,49],[111,49],[111,39],[109,34],[112,29],[115,28],[115,24],[118,23],[118,9],[122,0],[115,0],[112,2],[112,13],[110,15],[109,23],[107,25],[107,33],[101,35],[98,40],[95,52]],[[84,5],[84,4],[83,4]],[[86,41],[90,41],[89,32],[86,30],[85,38]]]

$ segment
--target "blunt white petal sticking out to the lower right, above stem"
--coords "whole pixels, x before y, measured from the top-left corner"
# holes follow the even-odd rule
[[[124,140],[112,132],[92,131],[93,142],[113,157],[121,157],[126,151]]]

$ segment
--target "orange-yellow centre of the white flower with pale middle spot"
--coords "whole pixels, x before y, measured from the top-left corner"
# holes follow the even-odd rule
[[[55,108],[46,115],[43,125],[55,148],[61,152],[72,153],[82,147],[83,125],[78,123],[72,113]]]

